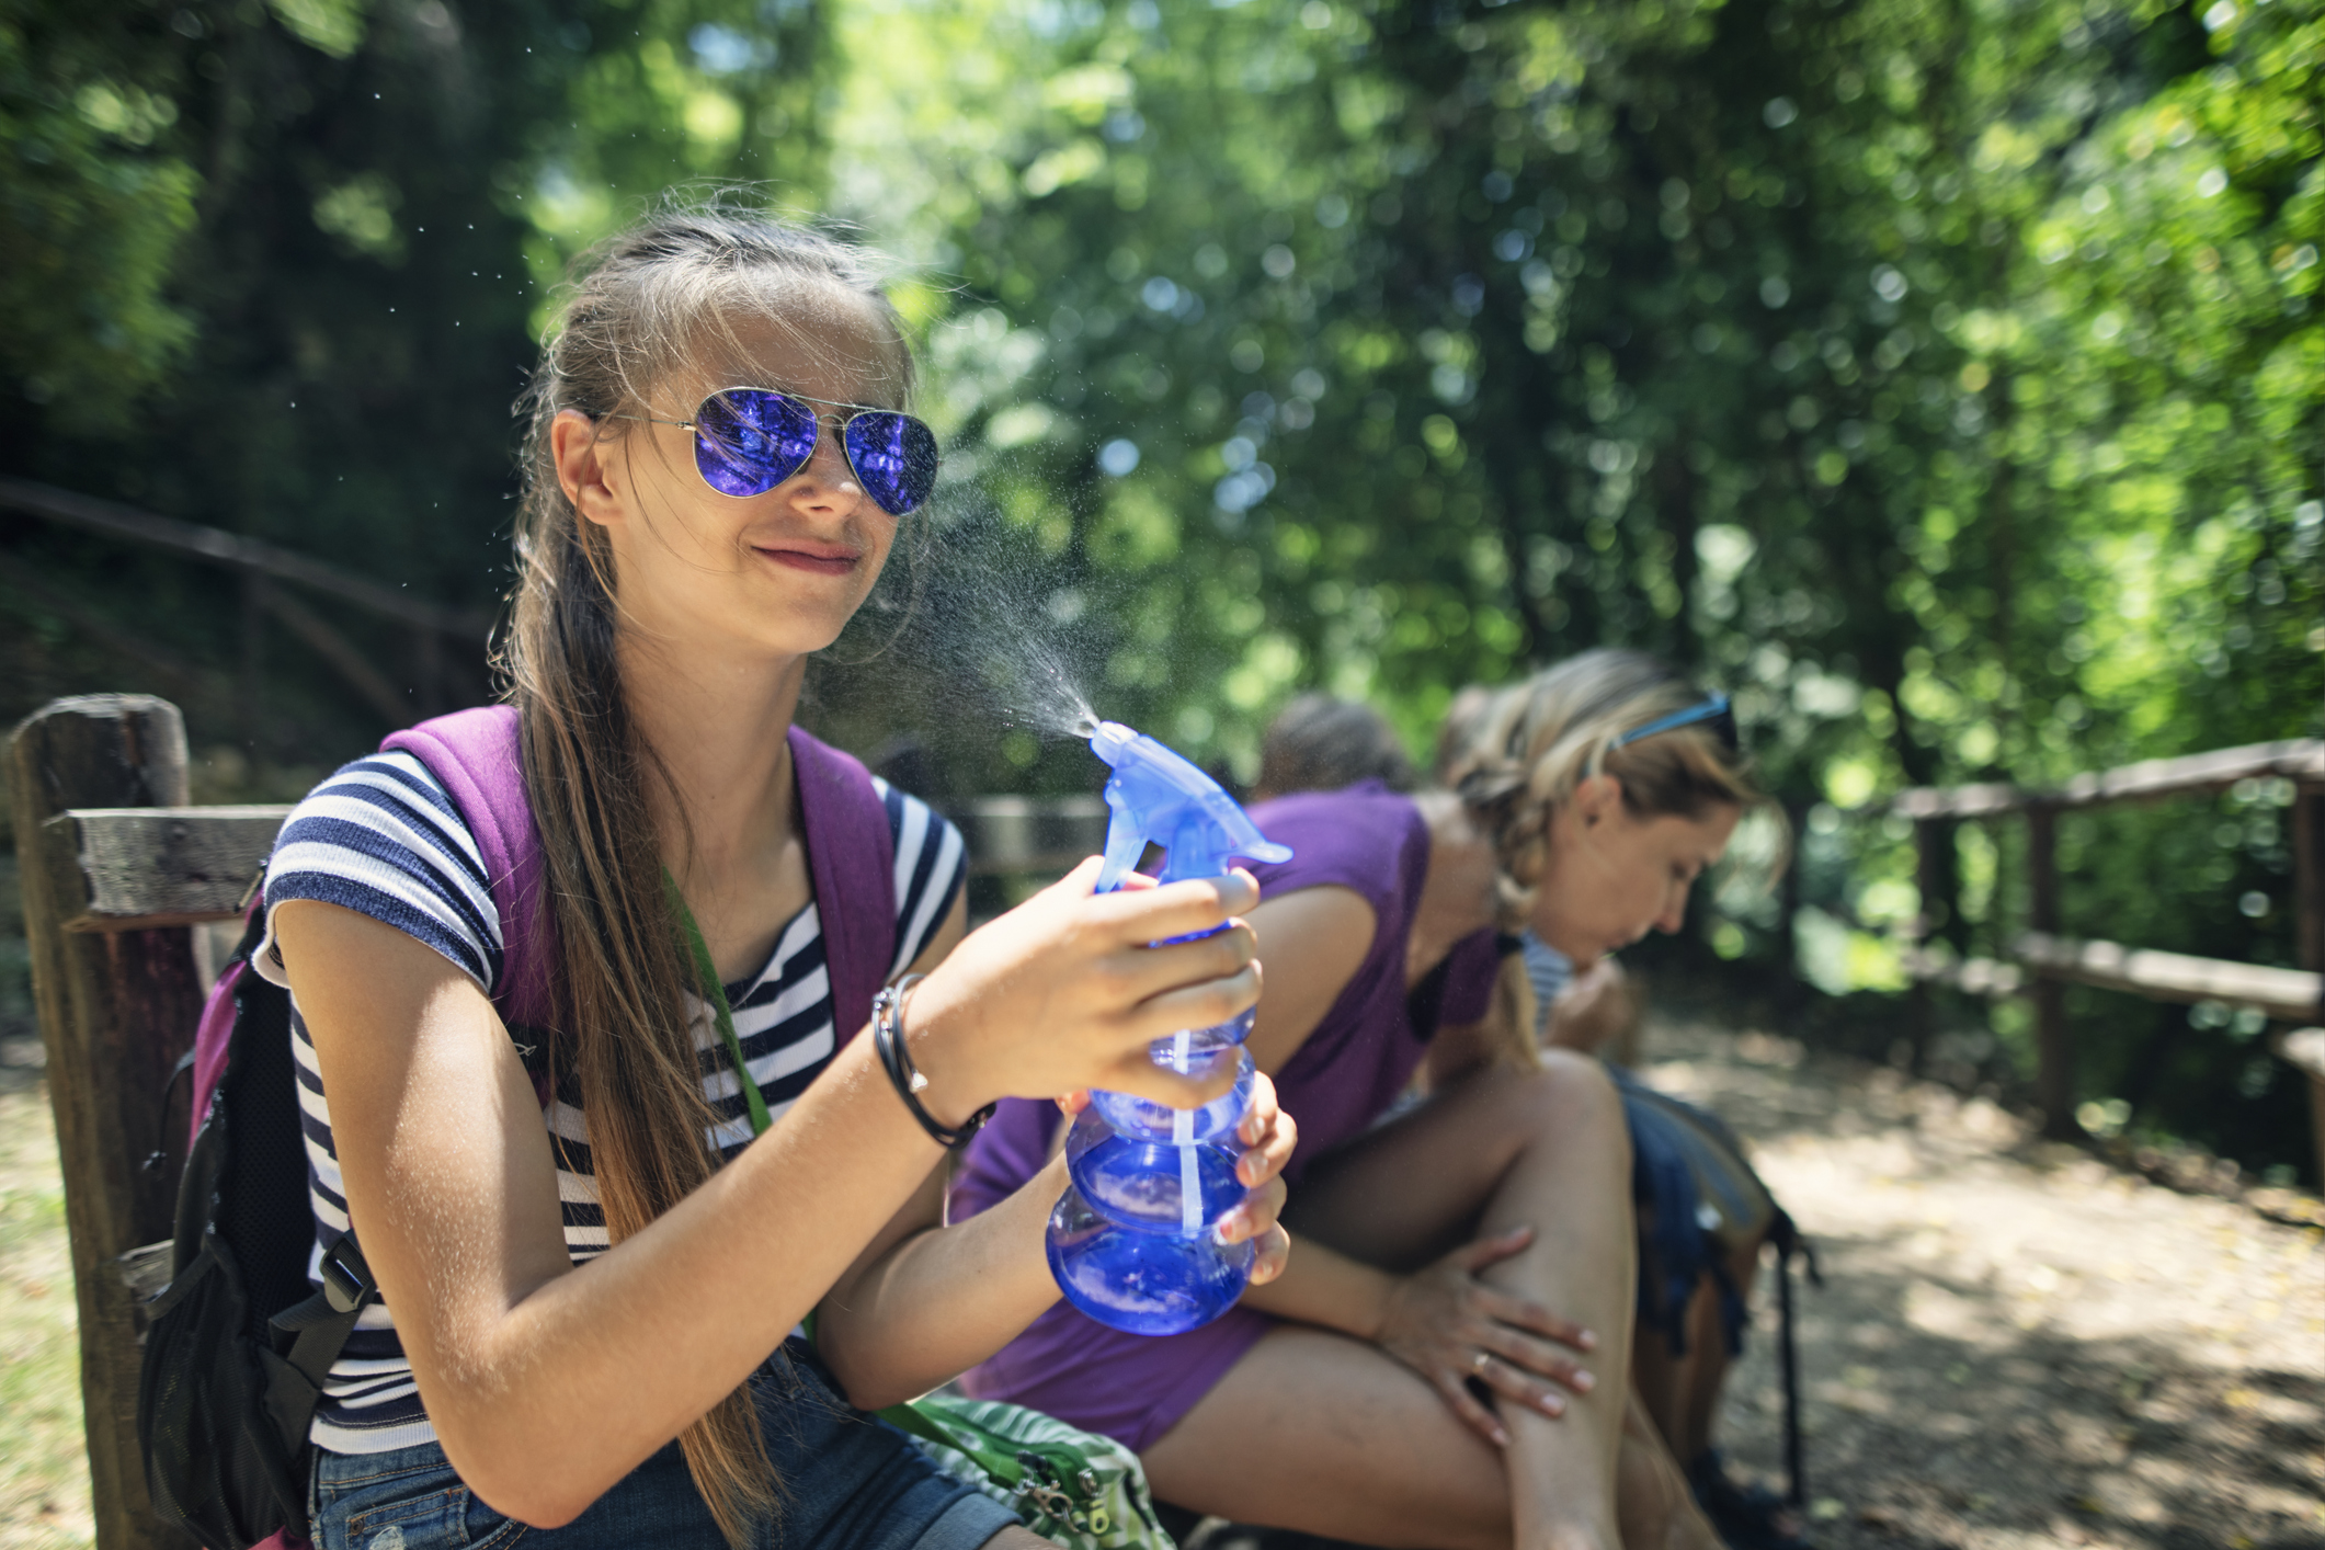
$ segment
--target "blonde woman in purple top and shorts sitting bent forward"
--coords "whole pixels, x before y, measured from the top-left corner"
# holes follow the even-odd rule
[[[1758,802],[1725,702],[1590,653],[1495,702],[1455,790],[1367,781],[1253,811],[1267,955],[1251,1053],[1297,1118],[1286,1273],[1179,1336],[1060,1304],[965,1385],[1128,1441],[1160,1499],[1367,1545],[1716,1543],[1628,1401],[1637,1273],[1623,1106],[1532,1046],[1532,927],[1588,967],[1676,930]],[[1416,1069],[1430,1097],[1383,1115]],[[1004,1104],[953,1215],[1044,1164],[1058,1113]]]

